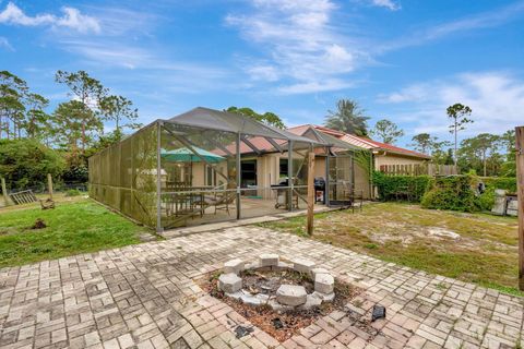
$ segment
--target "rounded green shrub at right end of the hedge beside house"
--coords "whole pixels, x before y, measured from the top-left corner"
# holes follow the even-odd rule
[[[422,196],[425,208],[462,212],[479,210],[480,201],[475,194],[478,179],[475,176],[450,176],[437,178],[432,188]]]

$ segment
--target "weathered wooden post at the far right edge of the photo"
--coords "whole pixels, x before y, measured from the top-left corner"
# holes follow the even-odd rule
[[[524,291],[524,127],[515,128],[519,203],[519,289]]]

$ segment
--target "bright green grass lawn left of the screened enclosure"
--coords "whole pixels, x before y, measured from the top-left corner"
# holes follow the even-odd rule
[[[0,208],[0,267],[140,243],[141,233],[152,233],[85,197],[56,202],[47,210],[39,204]],[[31,229],[37,218],[47,228]]]

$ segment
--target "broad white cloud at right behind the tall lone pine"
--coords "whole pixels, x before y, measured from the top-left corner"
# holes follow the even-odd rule
[[[398,104],[404,111],[396,117],[410,119],[415,133],[448,134],[445,108],[462,103],[473,109],[463,135],[480,132],[502,133],[523,124],[524,79],[508,72],[476,72],[414,84],[379,100]],[[392,106],[393,108],[393,106]]]

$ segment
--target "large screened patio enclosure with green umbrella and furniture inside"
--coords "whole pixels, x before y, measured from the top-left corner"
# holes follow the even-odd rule
[[[306,207],[308,154],[327,158],[332,146],[195,108],[91,157],[90,194],[158,231],[278,214]],[[331,171],[327,163],[315,167],[326,178]]]

